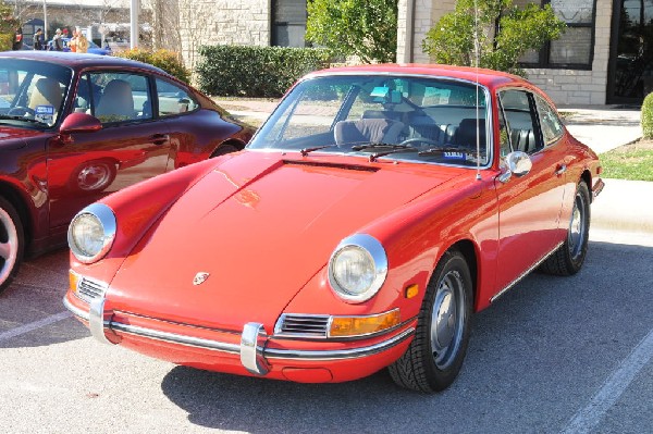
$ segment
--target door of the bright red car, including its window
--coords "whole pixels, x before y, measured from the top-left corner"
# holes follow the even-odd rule
[[[564,152],[544,140],[535,96],[527,89],[500,91],[500,149],[529,154],[530,172],[495,181],[500,208],[497,290],[509,287],[565,237]]]

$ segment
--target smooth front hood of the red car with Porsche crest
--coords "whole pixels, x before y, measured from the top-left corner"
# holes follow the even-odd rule
[[[459,173],[242,152],[178,199],[125,260],[109,298],[172,321],[269,327],[342,238]],[[209,277],[194,285],[200,272]]]

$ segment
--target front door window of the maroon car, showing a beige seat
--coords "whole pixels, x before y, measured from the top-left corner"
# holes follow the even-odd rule
[[[90,114],[103,124],[152,119],[152,102],[146,76],[114,72],[89,73],[87,80]],[[77,98],[84,98],[84,95],[79,91]]]

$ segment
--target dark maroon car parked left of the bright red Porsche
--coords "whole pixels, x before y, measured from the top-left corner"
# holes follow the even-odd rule
[[[113,57],[0,53],[0,290],[109,193],[242,149],[254,128],[165,72]]]

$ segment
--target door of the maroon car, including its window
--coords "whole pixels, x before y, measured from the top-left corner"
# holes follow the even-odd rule
[[[148,75],[85,73],[73,106],[99,119],[102,128],[50,141],[51,228],[65,227],[77,211],[108,194],[165,172],[170,154],[167,126],[152,115]]]

